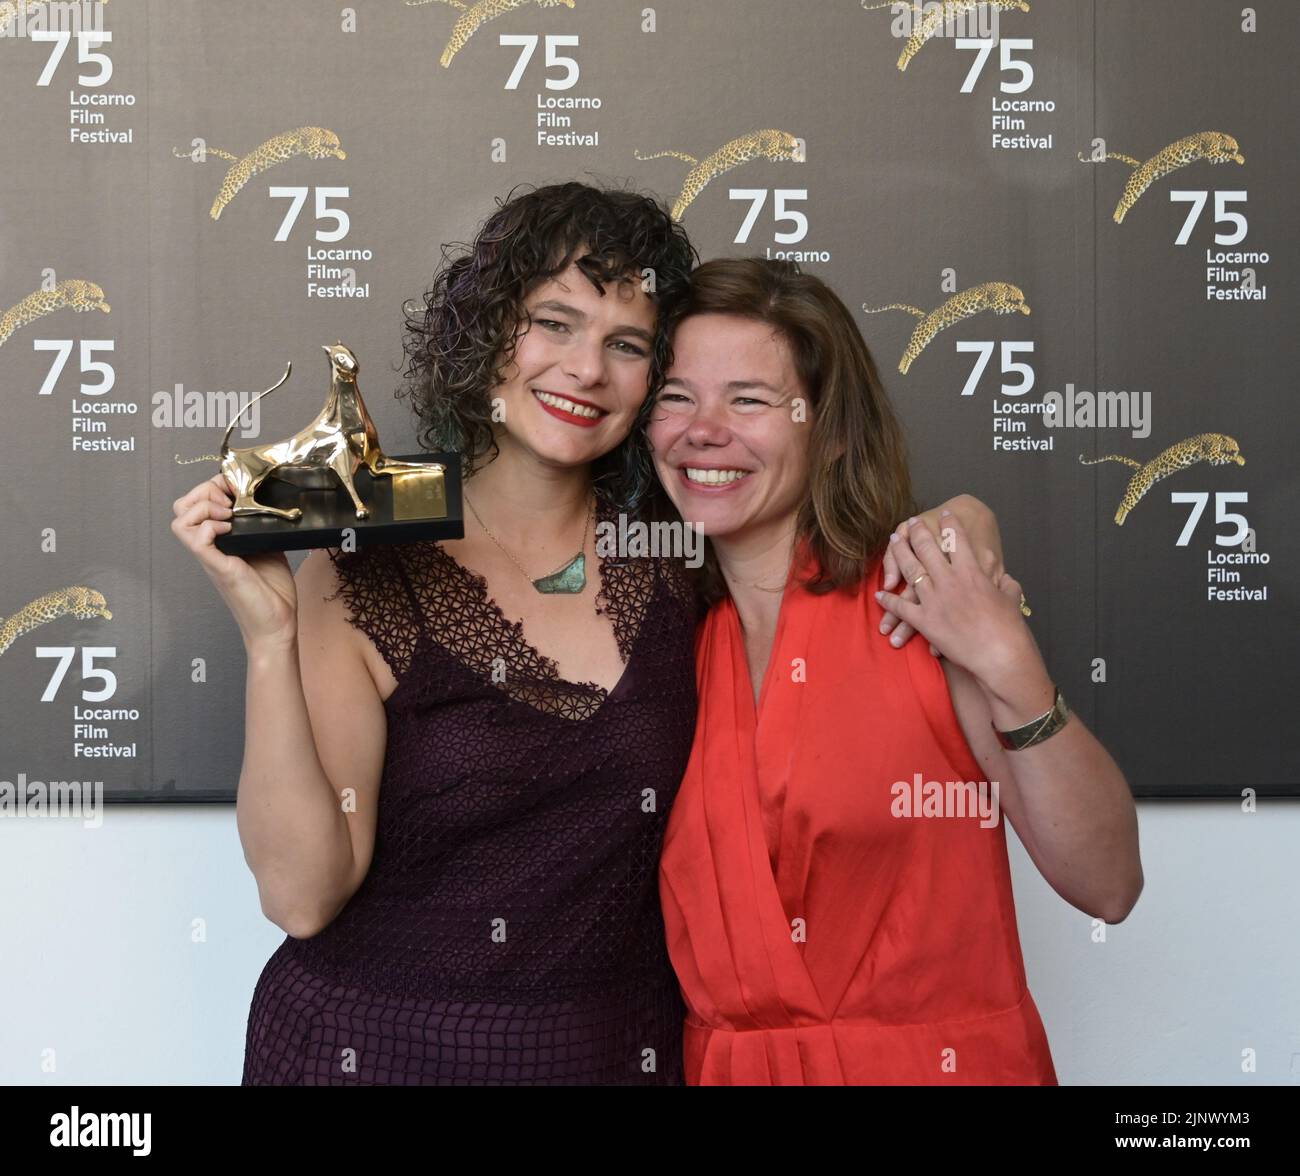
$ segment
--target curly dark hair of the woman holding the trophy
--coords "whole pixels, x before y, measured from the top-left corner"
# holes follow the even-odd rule
[[[530,291],[576,261],[602,296],[604,282],[636,281],[663,305],[685,290],[699,260],[667,205],[651,196],[576,181],[516,192],[498,199],[471,244],[442,247],[424,308],[406,307],[407,386],[398,396],[411,396],[420,443],[458,451],[465,476],[499,452],[491,390],[526,331]],[[671,361],[668,335],[658,327],[641,413],[628,439],[594,464],[597,492],[619,509],[637,509],[654,485],[642,426]]]

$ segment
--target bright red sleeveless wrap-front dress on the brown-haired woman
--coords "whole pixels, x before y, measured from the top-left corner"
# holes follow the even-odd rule
[[[690,1085],[1056,1085],[1001,819],[894,815],[983,769],[880,587],[879,561],[852,594],[792,583],[757,707],[729,599],[697,635],[659,867]]]

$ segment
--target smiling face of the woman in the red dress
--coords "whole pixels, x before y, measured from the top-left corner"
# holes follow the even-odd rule
[[[655,472],[711,539],[793,531],[812,412],[784,337],[733,314],[682,320],[647,437]]]

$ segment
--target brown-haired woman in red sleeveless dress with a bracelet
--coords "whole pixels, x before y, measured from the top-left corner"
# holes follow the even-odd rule
[[[715,602],[659,875],[688,1082],[1054,1084],[1000,817],[1118,923],[1128,785],[956,516],[890,534],[902,433],[835,294],[725,259],[670,314],[649,439]],[[915,600],[883,590],[890,548]],[[892,647],[894,619],[931,648]]]

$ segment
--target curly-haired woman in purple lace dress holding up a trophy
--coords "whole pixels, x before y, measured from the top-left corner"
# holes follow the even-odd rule
[[[598,559],[653,481],[659,303],[694,251],[658,201],[504,201],[408,322],[458,541],[222,555],[222,476],[173,530],[248,656],[237,817],[287,932],[246,1084],[680,1084],[656,869],[696,719],[681,560]],[[382,786],[381,786],[382,785]]]

